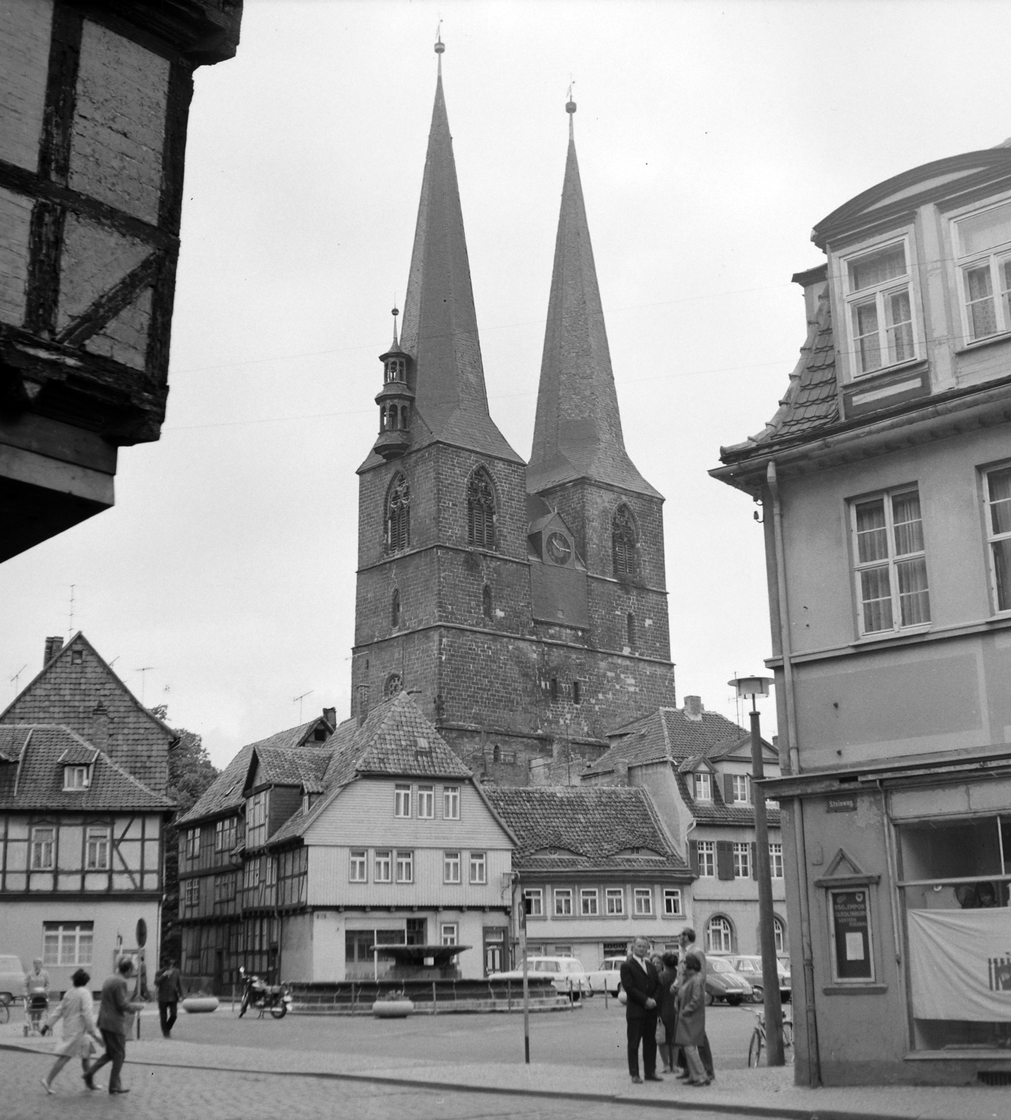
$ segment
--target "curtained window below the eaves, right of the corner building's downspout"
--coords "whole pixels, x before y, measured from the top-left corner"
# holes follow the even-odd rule
[[[929,623],[919,491],[854,502],[852,512],[861,633]]]

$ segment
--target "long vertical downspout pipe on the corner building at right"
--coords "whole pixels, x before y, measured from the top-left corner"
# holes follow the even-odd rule
[[[797,746],[797,697],[794,688],[794,663],[790,645],[790,608],[787,600],[786,552],[782,544],[782,504],[776,460],[770,459],[766,482],[772,496],[772,539],[776,553],[777,614],[779,616],[779,645],[782,655],[783,691],[786,693],[787,740],[789,743],[790,773],[800,773],[800,752]],[[822,1084],[822,1064],[818,1056],[818,1019],[815,1008],[815,964],[811,952],[810,905],[807,885],[807,846],[804,841],[804,804],[794,799],[794,846],[797,852],[797,897],[800,903],[800,952],[804,963],[804,1014],[807,1037],[807,1061],[811,1085]]]

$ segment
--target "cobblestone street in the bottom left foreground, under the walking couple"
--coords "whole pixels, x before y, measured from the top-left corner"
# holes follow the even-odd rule
[[[630,1109],[613,1102],[542,1101],[528,1096],[448,1092],[341,1082],[312,1075],[256,1072],[222,1073],[128,1063],[123,1084],[130,1093],[91,1093],[80,1066],[68,1064],[47,1096],[39,1077],[52,1056],[0,1051],[0,1116],[4,1120],[622,1120]],[[102,1071],[99,1081],[104,1082]],[[713,1113],[705,1114],[714,1120]],[[680,1120],[702,1120],[679,1112]]]

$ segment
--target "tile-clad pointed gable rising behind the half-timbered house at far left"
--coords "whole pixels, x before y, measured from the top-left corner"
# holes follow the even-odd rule
[[[103,748],[145,786],[165,793],[176,732],[140,703],[80,631],[0,713],[0,724],[63,724],[91,741],[100,701],[109,719]]]

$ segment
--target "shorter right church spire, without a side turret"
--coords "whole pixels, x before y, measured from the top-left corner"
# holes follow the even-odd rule
[[[586,478],[659,497],[629,458],[621,432],[576,160],[572,87],[565,110],[569,114],[568,156],[527,489],[532,494]]]

